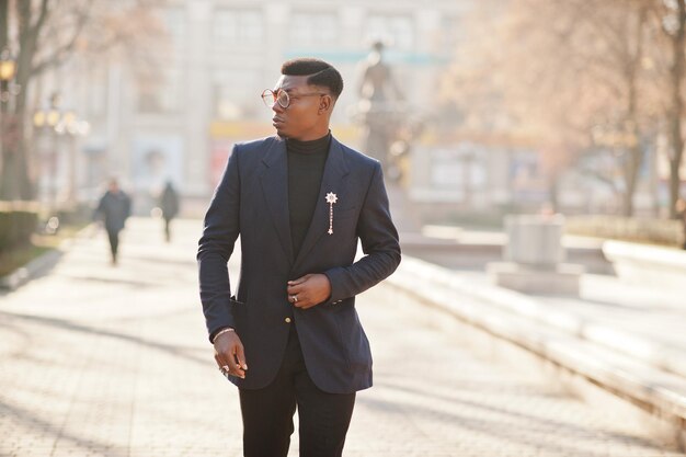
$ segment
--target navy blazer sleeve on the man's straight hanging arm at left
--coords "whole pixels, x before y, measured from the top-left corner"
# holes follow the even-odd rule
[[[227,263],[240,233],[240,175],[238,148],[235,146],[224,175],[211,198],[197,262],[201,301],[210,336],[225,327],[235,327],[229,300],[231,285]]]

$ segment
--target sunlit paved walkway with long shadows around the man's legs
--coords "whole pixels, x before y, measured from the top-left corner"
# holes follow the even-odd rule
[[[240,456],[238,396],[216,370],[196,292],[199,221],[133,219],[117,267],[103,233],[0,295],[0,456]],[[358,301],[375,387],[346,456],[683,456],[611,411],[490,361],[382,287]],[[296,432],[297,433],[297,432]],[[297,434],[291,456],[297,455]]]

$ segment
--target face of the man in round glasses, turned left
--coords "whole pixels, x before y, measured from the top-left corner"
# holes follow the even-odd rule
[[[282,76],[274,93],[285,91],[290,96],[288,107],[282,107],[277,102],[272,105],[274,117],[272,125],[281,137],[307,141],[321,138],[329,132],[329,95],[315,95],[327,92],[324,89],[309,85],[307,76]],[[307,95],[307,96],[302,96]],[[328,100],[322,101],[322,98]],[[323,108],[322,108],[323,107]]]

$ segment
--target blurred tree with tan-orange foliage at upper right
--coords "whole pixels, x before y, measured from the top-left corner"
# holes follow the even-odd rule
[[[477,64],[462,60],[459,80],[476,82],[481,92],[487,82],[485,90],[496,94],[489,100],[498,101],[490,110],[507,113],[507,128],[551,156],[544,161],[551,183],[571,156],[592,147],[611,151],[621,160],[622,213],[631,215],[640,139],[648,135],[642,127],[649,113],[641,102],[651,91],[643,66],[650,0],[499,3],[485,16],[490,26],[481,16],[485,33],[476,41],[480,50],[471,52]]]

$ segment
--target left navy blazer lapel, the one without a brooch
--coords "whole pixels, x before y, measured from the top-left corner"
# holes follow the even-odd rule
[[[272,221],[278,233],[278,240],[293,264],[293,242],[290,240],[290,216],[288,212],[288,157],[286,142],[276,138],[262,162],[265,167],[262,173],[262,192],[266,201]]]

